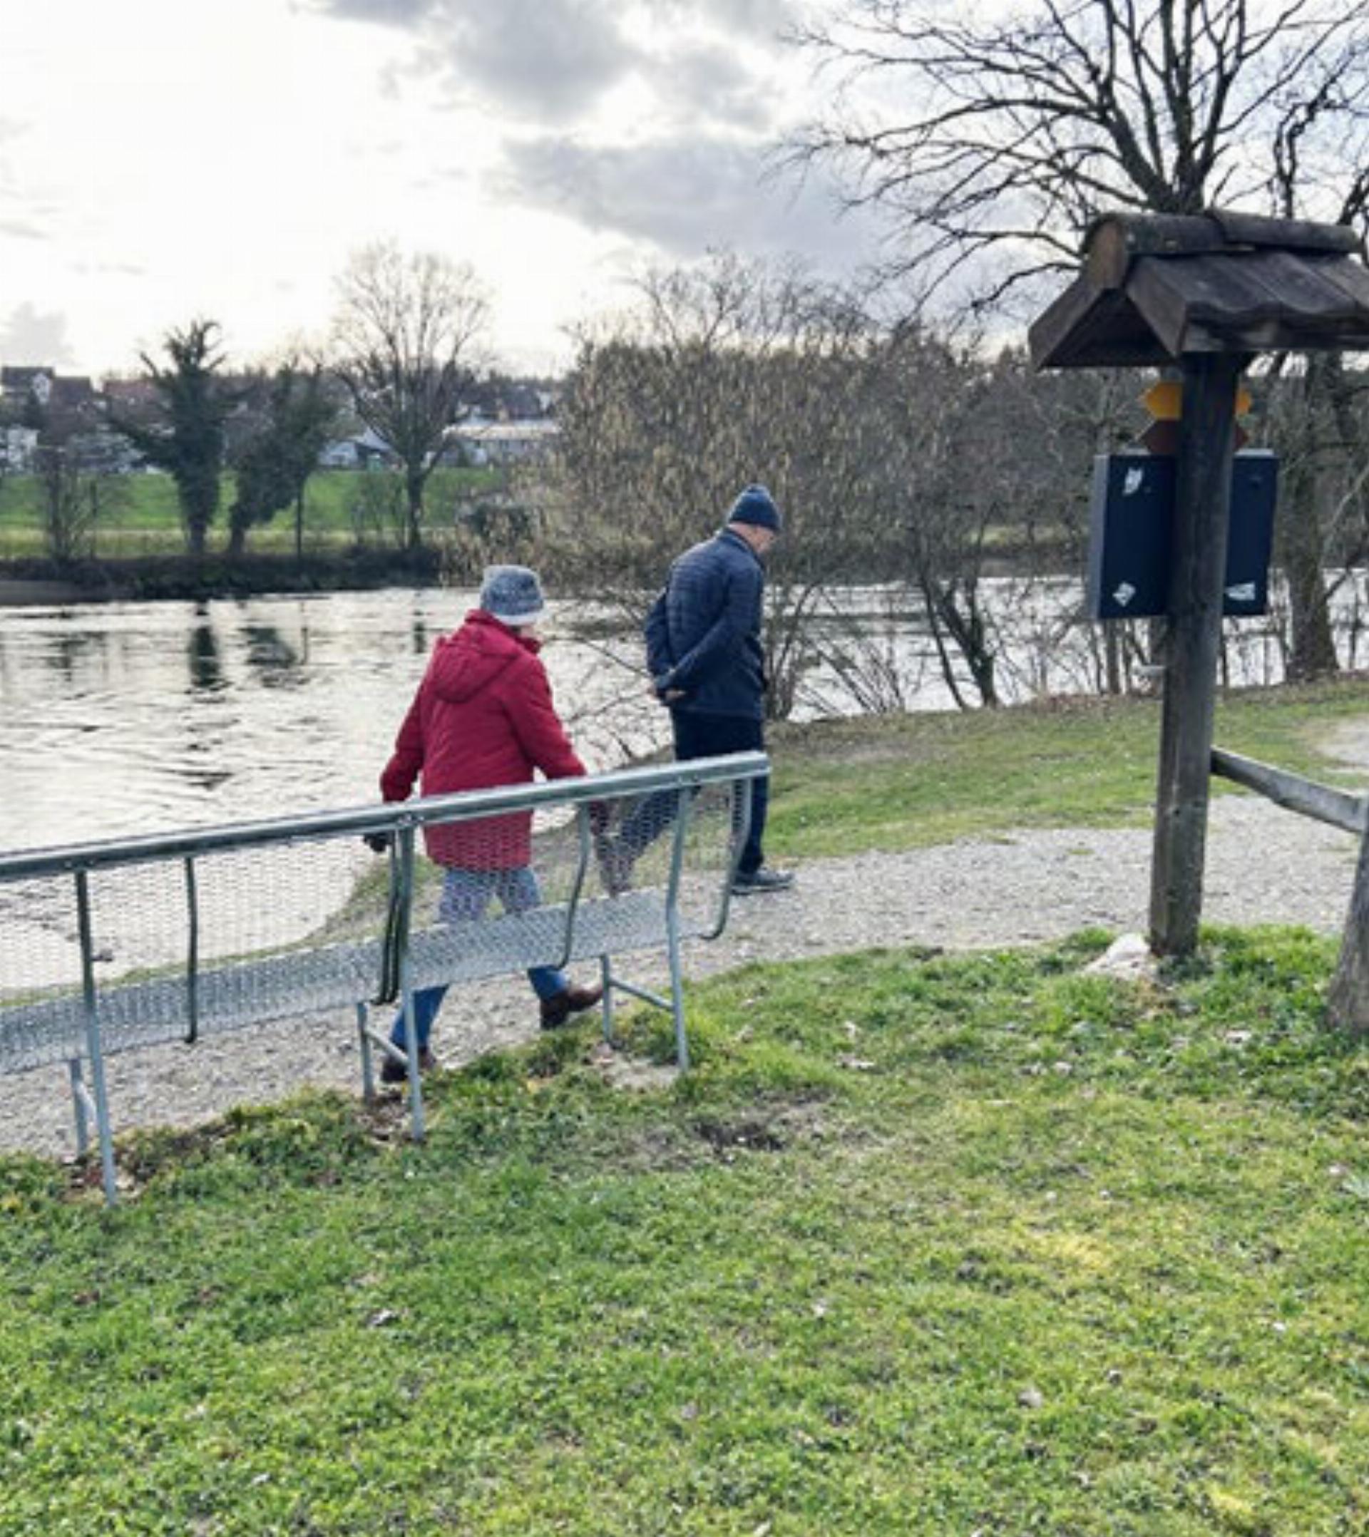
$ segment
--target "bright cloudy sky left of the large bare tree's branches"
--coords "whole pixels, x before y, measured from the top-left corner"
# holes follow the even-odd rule
[[[811,9],[811,8],[810,8]],[[43,0],[0,51],[0,361],[128,370],[192,315],[317,335],[350,251],[470,261],[493,344],[710,246],[850,271],[871,232],[765,178],[820,101],[797,0]]]

